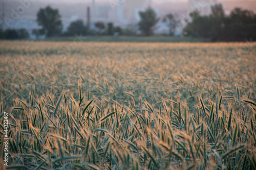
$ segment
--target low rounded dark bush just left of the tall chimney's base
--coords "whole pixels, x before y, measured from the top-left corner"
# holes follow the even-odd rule
[[[88,28],[84,26],[82,20],[76,20],[74,22],[71,22],[70,26],[68,27],[68,31],[65,33],[65,35],[68,36],[74,36],[75,34],[82,34],[86,35],[88,33]]]

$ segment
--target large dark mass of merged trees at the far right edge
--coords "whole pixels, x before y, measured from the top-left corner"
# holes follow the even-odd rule
[[[211,7],[209,16],[200,16],[198,11],[190,13],[184,32],[188,36],[210,41],[245,41],[256,39],[256,14],[235,8],[225,16],[222,5]]]

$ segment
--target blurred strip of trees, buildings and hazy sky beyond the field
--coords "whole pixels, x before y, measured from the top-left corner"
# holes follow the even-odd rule
[[[254,0],[1,0],[0,38],[254,41]],[[153,37],[152,37],[153,36]]]

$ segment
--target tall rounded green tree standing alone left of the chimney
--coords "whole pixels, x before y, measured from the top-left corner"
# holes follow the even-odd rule
[[[42,27],[41,32],[47,37],[52,37],[60,34],[62,31],[61,16],[58,9],[52,9],[47,6],[45,9],[40,9],[37,13],[37,23]]]

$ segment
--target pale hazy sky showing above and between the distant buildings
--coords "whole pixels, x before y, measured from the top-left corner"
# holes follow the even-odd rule
[[[24,0],[22,0],[24,1]],[[0,0],[0,15],[2,15],[2,7],[5,5],[5,16],[11,17],[13,10],[17,11],[17,7],[21,5],[20,0]],[[98,8],[98,17],[113,17],[111,14],[110,1],[118,0],[95,0]],[[125,0],[130,1],[130,0]],[[137,0],[136,0],[137,1]],[[223,4],[225,13],[228,14],[236,7],[248,9],[256,13],[256,0],[217,0]],[[4,2],[4,3],[2,3]],[[35,20],[36,14],[40,8],[50,5],[54,9],[58,9],[63,20],[72,18],[84,19],[87,16],[86,8],[90,6],[92,0],[34,0],[30,8],[20,15],[19,19],[24,21]],[[180,16],[186,15],[189,6],[188,0],[152,0],[153,8],[159,9],[160,15],[173,12]],[[104,4],[104,5],[103,5]],[[2,17],[0,16],[0,21]],[[1,22],[0,22],[1,23]],[[15,22],[16,23],[16,22]]]

